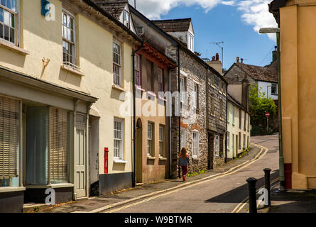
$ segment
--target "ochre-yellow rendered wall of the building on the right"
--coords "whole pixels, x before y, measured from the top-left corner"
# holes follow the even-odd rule
[[[280,9],[283,153],[292,187],[316,189],[316,6],[293,3]]]

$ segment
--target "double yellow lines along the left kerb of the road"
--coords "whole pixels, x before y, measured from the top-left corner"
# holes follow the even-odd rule
[[[235,172],[239,172],[240,170],[243,170],[244,168],[248,167],[249,165],[253,164],[254,162],[260,160],[264,155],[266,155],[266,153],[268,153],[268,148],[265,148],[265,147],[263,147],[263,146],[261,146],[261,145],[256,145],[256,144],[254,144],[254,143],[251,143],[251,144],[252,144],[252,145],[255,145],[255,146],[258,147],[258,148],[261,148],[261,151],[260,151],[260,152],[256,155],[256,157],[254,157],[252,160],[244,162],[244,163],[247,163],[247,162],[248,162],[248,164],[246,164],[246,165],[244,165],[244,163],[241,164],[241,165],[244,165],[244,166],[240,167],[238,170],[235,170],[236,167],[233,167],[233,168],[231,168],[230,170],[228,170],[226,173],[224,172],[224,173],[222,173],[222,174],[219,174],[218,177],[214,177],[214,175],[213,175],[213,176],[212,176],[212,177],[213,177],[212,179],[203,180],[202,182],[201,182],[201,180],[202,180],[202,179],[201,179],[201,180],[198,180],[199,182],[195,182],[195,183],[193,183],[193,184],[190,184],[190,185],[188,185],[187,187],[181,187],[181,188],[179,188],[179,189],[173,189],[173,190],[171,190],[171,192],[166,192],[166,193],[163,193],[163,194],[158,194],[157,196],[153,196],[153,197],[150,197],[150,198],[148,198],[148,199],[144,199],[144,200],[142,200],[142,201],[138,201],[138,202],[136,202],[136,203],[134,203],[134,204],[129,204],[129,205],[126,205],[126,206],[122,206],[122,207],[120,207],[120,208],[118,208],[118,209],[114,209],[114,210],[107,211],[107,212],[104,212],[104,213],[114,213],[114,212],[116,212],[116,211],[121,211],[121,210],[127,209],[127,208],[129,208],[129,207],[131,207],[131,206],[136,206],[136,205],[138,205],[138,204],[143,204],[143,203],[146,202],[146,201],[151,201],[151,200],[153,200],[153,199],[157,199],[157,198],[159,198],[159,197],[161,197],[161,196],[165,196],[165,195],[168,195],[168,194],[172,194],[172,193],[175,193],[175,192],[179,192],[179,191],[181,191],[181,190],[183,190],[183,189],[188,189],[188,188],[190,188],[190,187],[195,187],[195,186],[200,185],[200,184],[205,184],[205,183],[211,182],[211,181],[213,181],[213,180],[215,180],[215,179],[219,179],[219,178],[222,178],[222,177],[226,177],[226,176],[228,176],[228,175],[234,174]],[[263,150],[264,150],[264,152],[263,152]],[[261,155],[261,153],[263,153],[263,154]],[[259,155],[261,155],[261,156],[259,157]],[[239,166],[240,166],[240,165],[239,165]],[[234,170],[234,171],[232,171],[232,170]],[[205,177],[205,179],[206,179],[206,178],[209,178],[209,177]],[[183,185],[183,184],[181,184],[181,185]],[[105,209],[104,209],[104,210],[105,210]],[[91,211],[90,211],[90,212],[91,212]]]

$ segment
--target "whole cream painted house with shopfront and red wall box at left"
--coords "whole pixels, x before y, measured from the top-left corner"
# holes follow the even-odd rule
[[[59,203],[131,185],[120,106],[141,40],[91,1],[48,8],[0,1],[0,211],[43,203],[46,189]]]

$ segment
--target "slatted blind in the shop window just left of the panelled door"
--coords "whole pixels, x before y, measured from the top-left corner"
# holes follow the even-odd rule
[[[68,179],[68,114],[50,109],[50,179],[67,182]]]

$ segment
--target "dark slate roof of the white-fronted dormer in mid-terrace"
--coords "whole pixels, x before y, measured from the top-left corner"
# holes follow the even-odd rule
[[[191,18],[153,21],[160,29],[168,32],[189,31]]]

